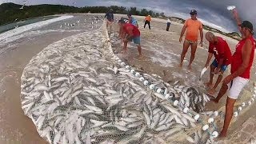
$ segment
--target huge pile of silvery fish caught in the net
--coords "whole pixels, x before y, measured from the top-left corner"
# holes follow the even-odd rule
[[[209,134],[193,114],[207,98],[178,82],[170,86],[134,74],[112,54],[103,23],[54,42],[30,60],[22,74],[22,110],[42,138],[71,144],[206,142]],[[175,100],[181,106],[172,106]]]

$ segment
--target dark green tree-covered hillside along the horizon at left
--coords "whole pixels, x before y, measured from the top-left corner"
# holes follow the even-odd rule
[[[152,10],[138,10],[136,7],[126,8],[123,6],[85,6],[85,7],[74,7],[74,6],[62,6],[62,5],[35,5],[35,6],[24,6],[21,10],[21,5],[14,3],[3,3],[0,5],[0,25],[12,23],[16,18],[18,21],[27,18],[36,18],[46,15],[53,14],[72,14],[72,13],[106,13],[110,9],[115,14],[133,14],[146,16],[150,14],[152,17],[165,17],[164,13],[155,13]]]

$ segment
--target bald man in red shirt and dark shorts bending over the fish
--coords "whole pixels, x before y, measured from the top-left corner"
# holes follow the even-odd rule
[[[208,93],[212,95],[215,93],[215,89],[217,88],[218,84],[222,81],[222,74],[230,64],[232,55],[230,47],[223,38],[217,37],[211,32],[207,32],[206,40],[209,41],[209,54],[205,67],[209,66],[210,59],[213,57],[213,55],[215,57],[214,62],[212,62],[210,65],[210,81],[206,83],[206,86],[210,87]],[[218,74],[218,79],[214,87],[212,87],[214,74]]]

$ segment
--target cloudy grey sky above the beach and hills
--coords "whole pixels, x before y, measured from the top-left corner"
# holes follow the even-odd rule
[[[190,18],[190,10],[198,11],[203,24],[224,32],[238,31],[226,6],[236,6],[240,18],[249,20],[256,27],[256,0],[26,0],[27,5],[62,4],[69,6],[136,6],[155,12],[164,12],[166,16]],[[23,0],[0,0],[0,3],[14,2],[23,4]],[[255,28],[256,29],[256,28]]]

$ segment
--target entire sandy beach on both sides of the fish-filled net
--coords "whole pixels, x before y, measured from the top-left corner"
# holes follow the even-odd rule
[[[126,17],[126,15],[121,14],[114,14],[114,16],[116,18]],[[86,16],[82,15],[79,18],[69,19],[69,21],[76,22],[78,19],[84,17]],[[142,70],[147,74],[158,74],[165,82],[170,82],[170,84],[179,80],[182,85],[194,86],[198,88],[198,90],[206,92],[206,87],[203,85],[203,82],[209,80],[209,70],[207,70],[206,74],[203,76],[202,82],[199,81],[199,74],[207,58],[208,42],[206,42],[206,39],[204,39],[202,47],[198,46],[193,70],[190,71],[186,68],[190,58],[190,50],[186,54],[183,68],[178,69],[180,54],[182,52],[182,43],[178,42],[178,38],[182,24],[172,22],[170,31],[166,31],[166,20],[153,18],[151,30],[149,30],[147,26],[146,29],[142,27],[144,25],[143,17],[135,16],[135,18],[138,19],[139,30],[141,30],[142,54],[144,58],[138,59],[138,50],[136,46],[131,43],[128,45],[128,56],[122,57],[122,59],[126,60],[130,66],[137,67],[138,70]],[[60,22],[58,25],[56,24],[52,30],[58,30],[59,24]],[[21,109],[20,78],[22,71],[34,55],[38,54],[51,43],[74,34],[79,34],[87,30],[95,30],[97,28],[98,27],[89,29],[89,27],[83,27],[81,25],[77,31],[63,30],[61,32],[47,32],[29,39],[20,38],[17,41],[1,46],[1,49],[4,49],[6,46],[9,46],[10,49],[5,50],[0,55],[0,143],[46,143],[46,141],[38,135],[31,119],[26,117]],[[50,28],[42,27],[41,29],[47,30]],[[117,23],[114,23],[113,31],[110,31],[110,35],[114,32],[118,32]],[[206,30],[204,30],[204,34],[205,33]],[[222,37],[226,39],[232,53],[234,53],[234,47],[238,41],[233,38],[227,38],[226,36]],[[114,53],[122,56],[119,54],[122,50],[122,46],[117,36],[110,37],[110,40],[113,41],[111,43]],[[225,75],[229,74],[229,71],[230,67],[226,70]],[[251,70],[251,81],[246,86],[246,89],[242,91],[236,105],[249,100],[252,90],[254,90],[253,82],[256,81],[254,73],[255,65]],[[220,85],[218,86],[218,90],[219,87]],[[226,96],[222,98],[219,104],[214,104],[213,102],[207,103],[206,110],[225,110],[223,109],[225,103]],[[237,110],[237,108],[238,106],[235,106],[235,110]],[[252,131],[256,130],[255,108],[256,106],[253,104],[243,109],[238,118],[230,125],[228,137],[220,143],[249,142],[250,138],[256,138],[256,133]],[[222,120],[218,122],[218,130],[221,128]]]

